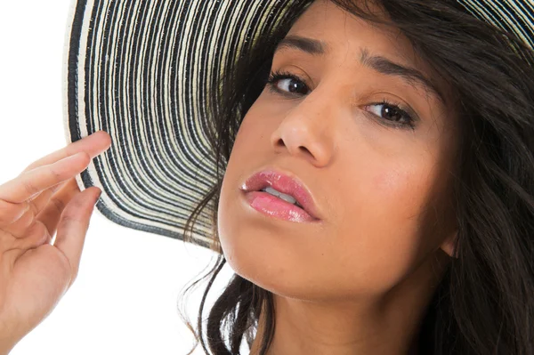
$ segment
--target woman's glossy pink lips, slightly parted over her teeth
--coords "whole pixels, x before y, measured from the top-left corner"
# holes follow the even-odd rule
[[[292,196],[303,208],[260,191],[269,186],[274,190]],[[251,203],[251,206],[261,210],[263,213],[276,215],[295,222],[320,220],[320,214],[313,203],[312,194],[295,177],[279,173],[273,169],[263,170],[259,173],[254,173],[248,178],[247,182],[241,186],[241,190],[247,194],[247,201]]]

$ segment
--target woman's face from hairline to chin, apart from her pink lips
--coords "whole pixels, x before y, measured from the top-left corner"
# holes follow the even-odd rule
[[[272,71],[301,79],[279,79],[277,93],[265,87],[239,128],[218,209],[226,260],[256,285],[301,299],[384,294],[428,278],[416,270],[447,256],[455,234],[457,124],[440,94],[410,75],[419,72],[443,100],[447,86],[406,37],[328,1],[313,3],[290,36],[327,48],[280,47]],[[263,168],[303,182],[320,222],[249,206],[240,187]]]

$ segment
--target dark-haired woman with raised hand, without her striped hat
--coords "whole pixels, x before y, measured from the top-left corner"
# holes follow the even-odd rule
[[[214,200],[206,294],[225,262],[236,275],[207,335],[202,303],[206,353],[247,336],[254,354],[534,354],[530,46],[456,1],[295,6],[210,101],[224,173],[186,230]],[[75,278],[98,189],[72,177],[109,145],[94,133],[0,187],[4,351]]]

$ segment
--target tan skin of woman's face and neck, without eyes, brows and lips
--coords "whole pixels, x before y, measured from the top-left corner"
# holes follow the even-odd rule
[[[398,30],[371,26],[328,1],[313,3],[289,35],[320,39],[331,51],[275,53],[272,69],[303,78],[309,91],[287,97],[265,88],[247,112],[218,208],[223,253],[239,276],[274,296],[269,355],[416,353],[420,322],[457,236],[450,88]],[[363,48],[421,71],[446,101],[363,66]],[[290,85],[295,81],[278,82],[282,91]],[[384,98],[414,109],[416,128],[380,125],[384,117],[368,115]],[[298,177],[320,223],[248,206],[239,187],[264,167]],[[259,324],[261,335],[263,313]],[[251,354],[260,343],[258,336]]]

